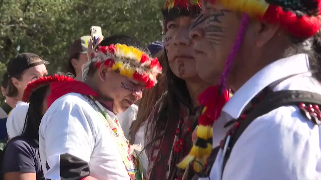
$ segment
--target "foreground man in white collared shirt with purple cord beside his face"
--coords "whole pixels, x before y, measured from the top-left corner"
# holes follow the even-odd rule
[[[196,69],[235,94],[215,119],[223,140],[213,139],[200,179],[321,179],[320,0],[202,0],[202,9],[189,33],[204,57]]]

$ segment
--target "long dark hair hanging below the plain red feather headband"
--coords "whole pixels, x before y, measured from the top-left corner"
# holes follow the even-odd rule
[[[42,119],[42,104],[46,97],[49,84],[38,87],[30,94],[29,109],[24,122],[22,137],[39,140],[39,126]]]

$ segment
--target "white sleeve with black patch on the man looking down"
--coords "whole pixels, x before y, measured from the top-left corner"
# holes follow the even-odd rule
[[[60,169],[63,155],[72,155],[89,163],[95,146],[96,132],[85,108],[64,99],[57,101],[48,109],[39,128],[41,161],[45,156],[45,163],[50,168],[47,172],[44,170],[47,179],[59,178],[62,171],[70,170]]]

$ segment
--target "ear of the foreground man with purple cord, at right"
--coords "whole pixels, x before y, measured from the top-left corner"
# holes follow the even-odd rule
[[[279,30],[280,26],[261,22],[261,28],[258,32],[256,46],[258,48],[264,46]]]

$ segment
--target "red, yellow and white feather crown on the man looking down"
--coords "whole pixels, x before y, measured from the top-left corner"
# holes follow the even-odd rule
[[[157,76],[162,71],[157,58],[135,47],[121,44],[100,46],[91,54],[91,61],[97,68],[105,65],[121,75],[143,82],[146,88],[157,84]]]

